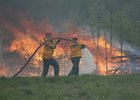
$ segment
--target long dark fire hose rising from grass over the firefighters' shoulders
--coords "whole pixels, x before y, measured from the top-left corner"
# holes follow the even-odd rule
[[[65,39],[65,38],[52,38],[53,40],[55,39],[60,39],[60,40],[65,40],[65,41],[73,41],[71,39]],[[36,49],[35,51],[33,52],[33,54],[30,56],[30,58],[27,60],[27,62],[21,67],[21,69],[16,73],[14,74],[11,78],[13,77],[16,77],[27,65],[28,63],[31,61],[31,59],[34,57],[34,55],[36,54],[36,52],[45,44],[47,43],[48,40],[44,41],[43,43],[41,43]]]

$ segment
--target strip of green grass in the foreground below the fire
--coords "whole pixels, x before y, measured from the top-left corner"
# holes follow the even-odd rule
[[[1,77],[0,100],[140,100],[140,75]]]

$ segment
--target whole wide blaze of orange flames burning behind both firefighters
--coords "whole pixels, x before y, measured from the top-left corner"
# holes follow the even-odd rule
[[[8,17],[5,17],[7,16]],[[57,33],[53,26],[44,19],[42,21],[34,21],[27,14],[8,11],[5,14],[0,15],[1,26],[1,54],[0,54],[0,72],[1,76],[11,76],[16,73],[32,55],[34,50],[40,45],[44,37],[44,33],[47,30],[53,32],[54,37],[70,38],[71,33],[79,34],[79,40],[81,43],[86,44],[87,48],[93,54],[94,63],[96,63],[97,74],[105,75],[113,68],[120,66],[120,59],[112,59],[112,57],[126,56],[126,53],[121,52],[116,47],[111,47],[107,40],[100,36],[97,44],[97,38],[94,39],[89,35],[88,31],[85,31],[76,26],[70,25],[69,21],[65,32]],[[69,60],[69,42],[61,41],[57,46],[54,57],[60,63],[61,75],[66,75],[70,70]],[[98,46],[98,51],[97,51]],[[110,49],[112,48],[112,49]],[[112,50],[112,53],[110,53]],[[42,59],[40,49],[33,57],[27,68],[21,73],[22,76],[38,76],[42,71]],[[129,57],[124,57],[122,60],[129,60]],[[123,64],[128,66],[128,62]],[[52,70],[52,69],[50,69]],[[53,71],[51,71],[53,72]],[[50,73],[52,74],[52,73]]]

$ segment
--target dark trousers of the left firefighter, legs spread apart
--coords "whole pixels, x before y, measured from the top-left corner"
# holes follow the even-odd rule
[[[48,74],[49,66],[52,65],[54,68],[54,76],[59,75],[59,64],[54,58],[51,59],[43,59],[43,72],[42,76],[46,76]]]

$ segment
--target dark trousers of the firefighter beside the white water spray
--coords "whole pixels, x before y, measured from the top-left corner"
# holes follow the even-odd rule
[[[73,64],[73,66],[72,66],[72,69],[71,69],[69,75],[79,75],[80,57],[71,58],[71,62]]]

